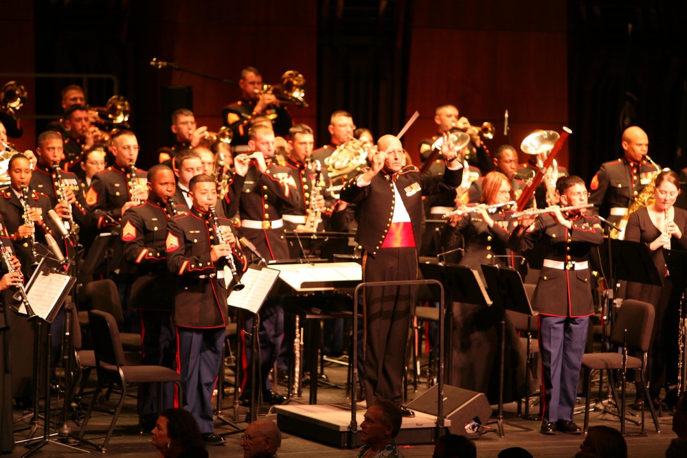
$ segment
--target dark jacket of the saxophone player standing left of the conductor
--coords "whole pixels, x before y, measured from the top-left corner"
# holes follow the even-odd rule
[[[284,203],[282,206],[282,217],[284,217],[284,227],[286,227],[286,230],[293,231],[297,225],[304,224],[306,216],[309,213],[311,204],[310,198],[315,186],[319,187],[319,193],[324,196],[325,206],[324,209],[322,209],[322,216],[324,218],[331,216],[336,199],[330,192],[326,191],[331,185],[326,167],[321,166],[320,173],[322,174],[322,180],[319,180],[319,174],[316,171],[313,171],[312,168],[308,168],[307,163],[296,162],[291,158],[286,159],[284,170],[286,170],[286,172],[280,171],[276,173],[275,176],[280,181],[284,181],[291,185],[293,187],[291,192],[293,192],[298,199],[295,205]],[[324,229],[324,224],[322,222],[318,225],[318,229]]]

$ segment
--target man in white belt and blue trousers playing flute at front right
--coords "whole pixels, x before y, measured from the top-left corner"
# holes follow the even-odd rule
[[[547,214],[523,216],[510,233],[513,251],[546,242],[532,308],[539,312],[539,345],[543,365],[541,433],[580,434],[573,421],[589,317],[594,314],[589,251],[600,245],[603,231],[595,216],[586,214],[587,188],[579,176],[563,176],[556,183],[561,206]],[[574,209],[577,208],[577,209]]]

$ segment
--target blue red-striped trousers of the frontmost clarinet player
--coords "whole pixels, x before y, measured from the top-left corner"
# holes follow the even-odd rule
[[[214,390],[227,330],[177,327],[184,407],[193,414],[201,433],[212,433],[212,390]],[[177,370],[179,370],[177,369]]]

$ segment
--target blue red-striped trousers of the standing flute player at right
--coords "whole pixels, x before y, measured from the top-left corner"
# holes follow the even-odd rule
[[[539,315],[543,421],[572,421],[589,317]]]

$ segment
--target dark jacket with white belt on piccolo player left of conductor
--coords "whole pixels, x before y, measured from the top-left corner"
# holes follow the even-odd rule
[[[248,238],[264,257],[288,259],[289,247],[284,238],[282,210],[297,204],[298,196],[289,180],[279,174],[289,170],[272,163],[264,174],[252,165],[248,169],[239,202],[241,227],[239,235]]]

